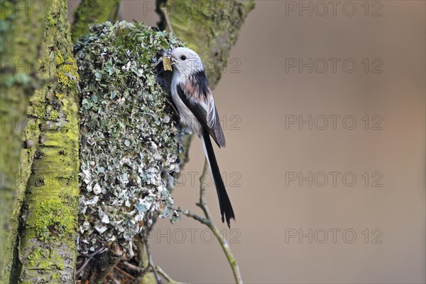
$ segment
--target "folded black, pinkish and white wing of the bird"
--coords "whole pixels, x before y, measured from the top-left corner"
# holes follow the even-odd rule
[[[202,75],[197,76],[190,82],[178,84],[176,89],[180,99],[192,111],[195,118],[200,121],[202,128],[209,132],[217,146],[223,148],[226,144],[225,136],[220,126],[219,114],[217,114],[217,109],[214,106],[212,91],[205,75],[204,77]]]

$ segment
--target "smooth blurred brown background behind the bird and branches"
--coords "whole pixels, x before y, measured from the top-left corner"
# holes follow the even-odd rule
[[[124,0],[124,20],[155,26],[153,5]],[[256,1],[214,90],[233,230],[208,195],[246,283],[425,283],[425,8]],[[190,158],[174,195],[200,213],[197,139]],[[175,280],[233,282],[204,229],[158,222],[155,263]]]

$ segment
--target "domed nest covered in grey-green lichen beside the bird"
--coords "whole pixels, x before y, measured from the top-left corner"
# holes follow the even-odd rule
[[[182,129],[156,80],[161,51],[182,46],[141,23],[102,23],[75,45],[82,92],[80,251],[132,239],[170,209]]]

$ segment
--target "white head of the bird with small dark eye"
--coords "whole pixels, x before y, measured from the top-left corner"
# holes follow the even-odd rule
[[[204,70],[200,56],[189,48],[175,48],[170,52],[173,70],[182,75]]]

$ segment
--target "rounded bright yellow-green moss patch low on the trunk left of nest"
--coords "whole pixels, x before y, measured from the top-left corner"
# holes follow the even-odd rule
[[[35,232],[41,241],[51,243],[75,233],[75,217],[60,200],[41,202],[35,219]]]

